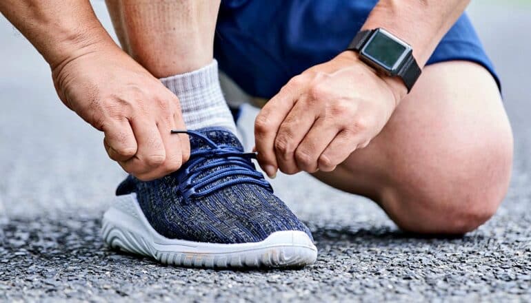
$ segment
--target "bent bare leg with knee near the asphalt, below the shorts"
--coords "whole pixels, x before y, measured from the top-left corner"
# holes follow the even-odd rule
[[[425,68],[368,147],[317,178],[376,201],[399,227],[464,233],[508,189],[512,132],[492,76],[454,61]]]

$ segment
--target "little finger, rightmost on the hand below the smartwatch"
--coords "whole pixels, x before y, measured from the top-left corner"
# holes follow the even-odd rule
[[[319,156],[319,170],[333,171],[357,149],[360,141],[359,135],[343,129]]]

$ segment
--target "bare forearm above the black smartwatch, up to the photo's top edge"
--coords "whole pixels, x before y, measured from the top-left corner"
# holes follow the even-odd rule
[[[380,0],[363,29],[385,28],[412,45],[423,66],[470,0]]]

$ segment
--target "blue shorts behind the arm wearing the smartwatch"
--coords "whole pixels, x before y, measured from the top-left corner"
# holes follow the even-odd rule
[[[214,42],[219,67],[252,96],[270,98],[293,76],[345,50],[377,0],[222,0]],[[466,14],[428,64],[483,65],[498,76]]]

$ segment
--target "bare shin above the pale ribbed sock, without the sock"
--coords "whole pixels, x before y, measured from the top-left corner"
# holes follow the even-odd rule
[[[123,50],[157,78],[213,59],[220,1],[106,0]]]

